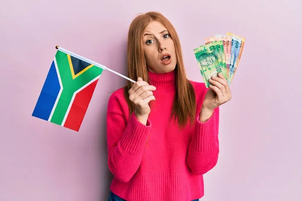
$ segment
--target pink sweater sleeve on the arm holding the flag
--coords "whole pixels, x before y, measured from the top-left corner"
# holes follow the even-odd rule
[[[127,122],[118,98],[111,96],[107,110],[108,166],[114,177],[128,182],[137,171],[151,125],[131,114]]]

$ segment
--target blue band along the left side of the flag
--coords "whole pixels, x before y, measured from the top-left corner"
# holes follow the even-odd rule
[[[54,61],[52,61],[32,116],[47,121],[59,91],[59,78],[55,69]]]

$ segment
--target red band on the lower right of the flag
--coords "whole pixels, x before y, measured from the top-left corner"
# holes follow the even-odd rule
[[[64,127],[79,131],[98,80],[92,82],[75,95]]]

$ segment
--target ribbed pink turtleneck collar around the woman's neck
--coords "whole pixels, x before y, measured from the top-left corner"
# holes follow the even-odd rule
[[[175,70],[168,73],[154,73],[148,71],[150,85],[154,85],[157,91],[175,91]]]

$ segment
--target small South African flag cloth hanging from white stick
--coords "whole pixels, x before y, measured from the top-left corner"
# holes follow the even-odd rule
[[[79,131],[102,72],[57,50],[32,116]]]

